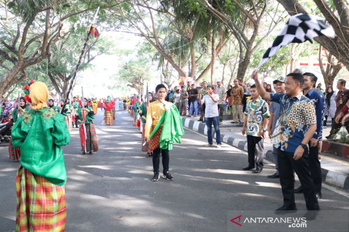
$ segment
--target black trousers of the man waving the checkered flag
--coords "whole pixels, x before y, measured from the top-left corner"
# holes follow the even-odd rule
[[[296,206],[294,193],[295,177],[293,176],[293,170],[295,170],[300,184],[303,186],[306,208],[308,210],[318,210],[320,207],[315,197],[314,183],[308,165],[308,148],[304,149],[303,156],[299,160],[294,160],[293,156],[294,153],[292,152],[281,151],[280,148],[277,149],[280,184],[284,198],[283,205],[291,208]]]

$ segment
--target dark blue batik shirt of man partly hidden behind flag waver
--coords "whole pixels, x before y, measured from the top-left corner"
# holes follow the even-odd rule
[[[316,113],[316,131],[313,135],[313,138],[318,139],[318,141],[322,140],[322,124],[324,123],[324,95],[311,89],[306,95],[307,98],[310,99],[314,103],[315,113]]]

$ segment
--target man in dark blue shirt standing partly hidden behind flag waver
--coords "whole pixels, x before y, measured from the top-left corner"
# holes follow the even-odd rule
[[[319,145],[318,142],[322,140],[322,123],[324,117],[324,95],[315,90],[315,85],[318,78],[310,72],[303,74],[304,84],[303,84],[303,94],[314,103],[317,127],[313,137],[309,142],[309,169],[310,175],[314,182],[314,191],[316,198],[321,198],[321,165],[318,158],[319,155]],[[295,193],[303,193],[302,185],[295,189]]]

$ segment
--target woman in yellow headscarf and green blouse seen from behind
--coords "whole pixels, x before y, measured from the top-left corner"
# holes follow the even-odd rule
[[[67,174],[61,146],[70,142],[63,115],[47,107],[43,82],[29,88],[32,110],[18,118],[12,143],[21,149],[17,171],[16,231],[64,231]]]

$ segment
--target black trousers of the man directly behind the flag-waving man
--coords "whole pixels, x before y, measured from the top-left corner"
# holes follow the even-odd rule
[[[314,147],[310,146],[309,142],[309,170],[311,178],[314,183],[314,191],[315,193],[321,192],[321,164],[318,158],[319,146],[316,145]]]

